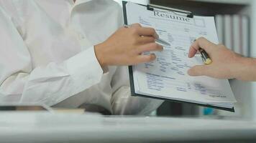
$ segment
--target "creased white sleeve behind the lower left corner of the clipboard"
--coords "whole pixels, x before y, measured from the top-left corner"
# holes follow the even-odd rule
[[[114,114],[148,115],[163,103],[163,100],[131,96],[127,66],[116,69],[111,86],[114,91],[111,98]]]

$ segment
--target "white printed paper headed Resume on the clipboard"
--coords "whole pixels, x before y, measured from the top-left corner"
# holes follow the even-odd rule
[[[137,94],[201,104],[221,103],[221,107],[227,103],[230,108],[232,105],[228,103],[236,102],[227,80],[187,74],[191,66],[203,64],[200,56],[188,58],[188,49],[194,39],[204,36],[218,44],[214,17],[194,16],[191,19],[170,11],[148,11],[145,6],[128,2],[127,22],[155,28],[160,38],[171,45],[164,46],[164,51],[155,52],[155,61],[133,66]]]

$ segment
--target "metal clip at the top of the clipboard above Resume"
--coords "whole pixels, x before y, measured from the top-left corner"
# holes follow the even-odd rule
[[[182,16],[184,16],[183,14],[185,14],[189,18],[193,18],[193,13],[191,11],[184,11],[184,10],[181,10],[181,9],[173,9],[173,8],[170,8],[170,7],[167,7],[167,6],[159,6],[159,5],[156,5],[156,4],[147,4],[147,10],[154,11],[155,10],[154,8],[172,11],[176,15],[182,14]]]

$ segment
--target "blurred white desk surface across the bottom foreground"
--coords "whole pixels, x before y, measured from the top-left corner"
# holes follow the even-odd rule
[[[241,142],[256,123],[219,119],[104,117],[99,114],[0,112],[0,142]]]

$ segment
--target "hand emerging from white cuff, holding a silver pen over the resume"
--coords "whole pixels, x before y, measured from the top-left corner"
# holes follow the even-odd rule
[[[145,51],[162,51],[163,46],[155,43],[155,29],[132,24],[120,28],[106,41],[94,46],[99,64],[104,66],[134,65],[154,60],[155,54],[144,55]]]

